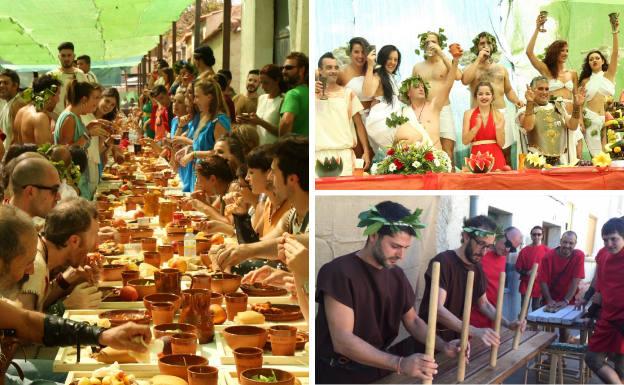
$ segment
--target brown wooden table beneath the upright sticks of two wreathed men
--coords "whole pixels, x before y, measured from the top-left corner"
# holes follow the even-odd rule
[[[466,365],[466,384],[501,384],[518,369],[544,350],[555,340],[554,333],[525,331],[520,340],[520,347],[512,349],[514,332],[501,331],[501,345],[498,350],[496,367],[490,367],[490,348],[479,340],[470,344],[470,361]],[[457,384],[457,359],[450,359],[436,354],[438,374],[434,384]],[[417,384],[420,380],[399,374],[391,374],[376,382],[377,384]]]

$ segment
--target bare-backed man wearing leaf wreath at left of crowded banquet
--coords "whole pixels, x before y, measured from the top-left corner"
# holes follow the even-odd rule
[[[50,117],[61,94],[61,82],[50,75],[33,81],[30,104],[17,112],[13,124],[16,143],[53,143],[54,120]]]

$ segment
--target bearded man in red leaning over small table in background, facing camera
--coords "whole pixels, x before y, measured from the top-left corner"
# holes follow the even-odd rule
[[[550,250],[539,267],[537,283],[546,306],[560,308],[574,304],[578,284],[585,278],[585,254],[576,246],[576,233],[566,231],[559,247]],[[568,342],[568,330],[559,329],[559,341]]]

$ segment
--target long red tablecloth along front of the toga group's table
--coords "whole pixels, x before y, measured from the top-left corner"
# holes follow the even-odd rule
[[[621,190],[624,169],[594,167],[488,174],[371,175],[316,179],[317,190]]]

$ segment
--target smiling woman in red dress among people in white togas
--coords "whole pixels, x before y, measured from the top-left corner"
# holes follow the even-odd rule
[[[480,82],[474,96],[477,107],[464,112],[462,142],[464,145],[472,143],[471,154],[492,154],[495,159],[492,170],[499,170],[506,165],[501,150],[501,146],[505,144],[505,117],[492,108],[494,87],[490,82]]]

